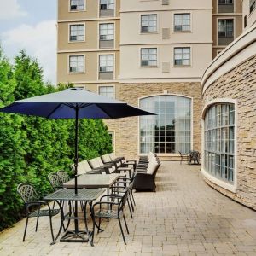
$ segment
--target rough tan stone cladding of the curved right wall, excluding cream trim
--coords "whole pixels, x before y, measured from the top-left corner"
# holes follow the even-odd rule
[[[237,191],[206,182],[256,210],[256,55],[215,80],[203,94],[204,104],[218,98],[237,101]]]

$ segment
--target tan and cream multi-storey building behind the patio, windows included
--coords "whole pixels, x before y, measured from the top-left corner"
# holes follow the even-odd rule
[[[59,0],[58,82],[158,113],[106,120],[116,154],[201,151],[201,76],[224,48],[218,36],[241,32],[236,2]],[[218,15],[235,20],[218,26]]]

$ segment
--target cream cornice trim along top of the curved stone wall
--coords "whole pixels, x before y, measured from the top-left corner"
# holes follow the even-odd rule
[[[201,91],[225,73],[256,55],[256,25],[243,32],[235,41],[222,50],[207,67],[201,78]]]

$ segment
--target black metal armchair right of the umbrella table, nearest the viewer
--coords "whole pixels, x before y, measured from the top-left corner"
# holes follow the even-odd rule
[[[123,231],[122,224],[121,224],[121,218],[124,218],[126,231],[129,234],[128,226],[127,226],[127,223],[125,220],[125,213],[124,213],[127,197],[128,197],[128,190],[126,190],[124,195],[122,195],[121,197],[119,195],[103,195],[101,197],[100,201],[96,202],[92,206],[91,215],[93,218],[93,236],[95,233],[94,232],[95,226],[98,229],[98,233],[99,233],[99,230],[101,230],[102,218],[115,218],[115,219],[119,220],[119,227],[120,227],[120,230],[121,230],[121,233],[123,236],[124,243],[126,245],[125,235],[124,235],[124,231]],[[115,200],[115,201],[102,201],[102,199],[104,199],[104,198],[108,198],[110,200]],[[99,209],[97,211],[95,211],[96,207],[99,207]],[[114,209],[113,209],[113,207],[114,207]],[[95,218],[99,218],[99,224],[97,224],[97,225],[96,225]],[[92,237],[92,241],[93,241],[93,238],[94,237]]]

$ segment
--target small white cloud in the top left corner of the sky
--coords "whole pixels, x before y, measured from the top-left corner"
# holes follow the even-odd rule
[[[20,8],[18,0],[0,1],[0,20],[13,20],[26,15],[26,11]]]

